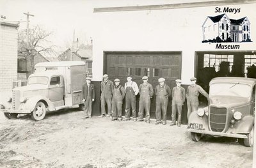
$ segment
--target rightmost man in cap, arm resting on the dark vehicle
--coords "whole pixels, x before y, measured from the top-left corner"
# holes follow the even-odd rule
[[[199,101],[198,101],[198,96],[199,93],[201,93],[202,95],[204,95],[207,99],[209,98],[209,95],[206,93],[206,91],[204,91],[204,89],[196,84],[196,78],[192,77],[190,79],[191,81],[191,85],[188,86],[188,90],[186,93],[186,97],[187,97],[187,105],[188,105],[188,119],[189,116],[191,114],[191,112],[193,111],[197,111],[198,110],[198,105],[199,105]]]

